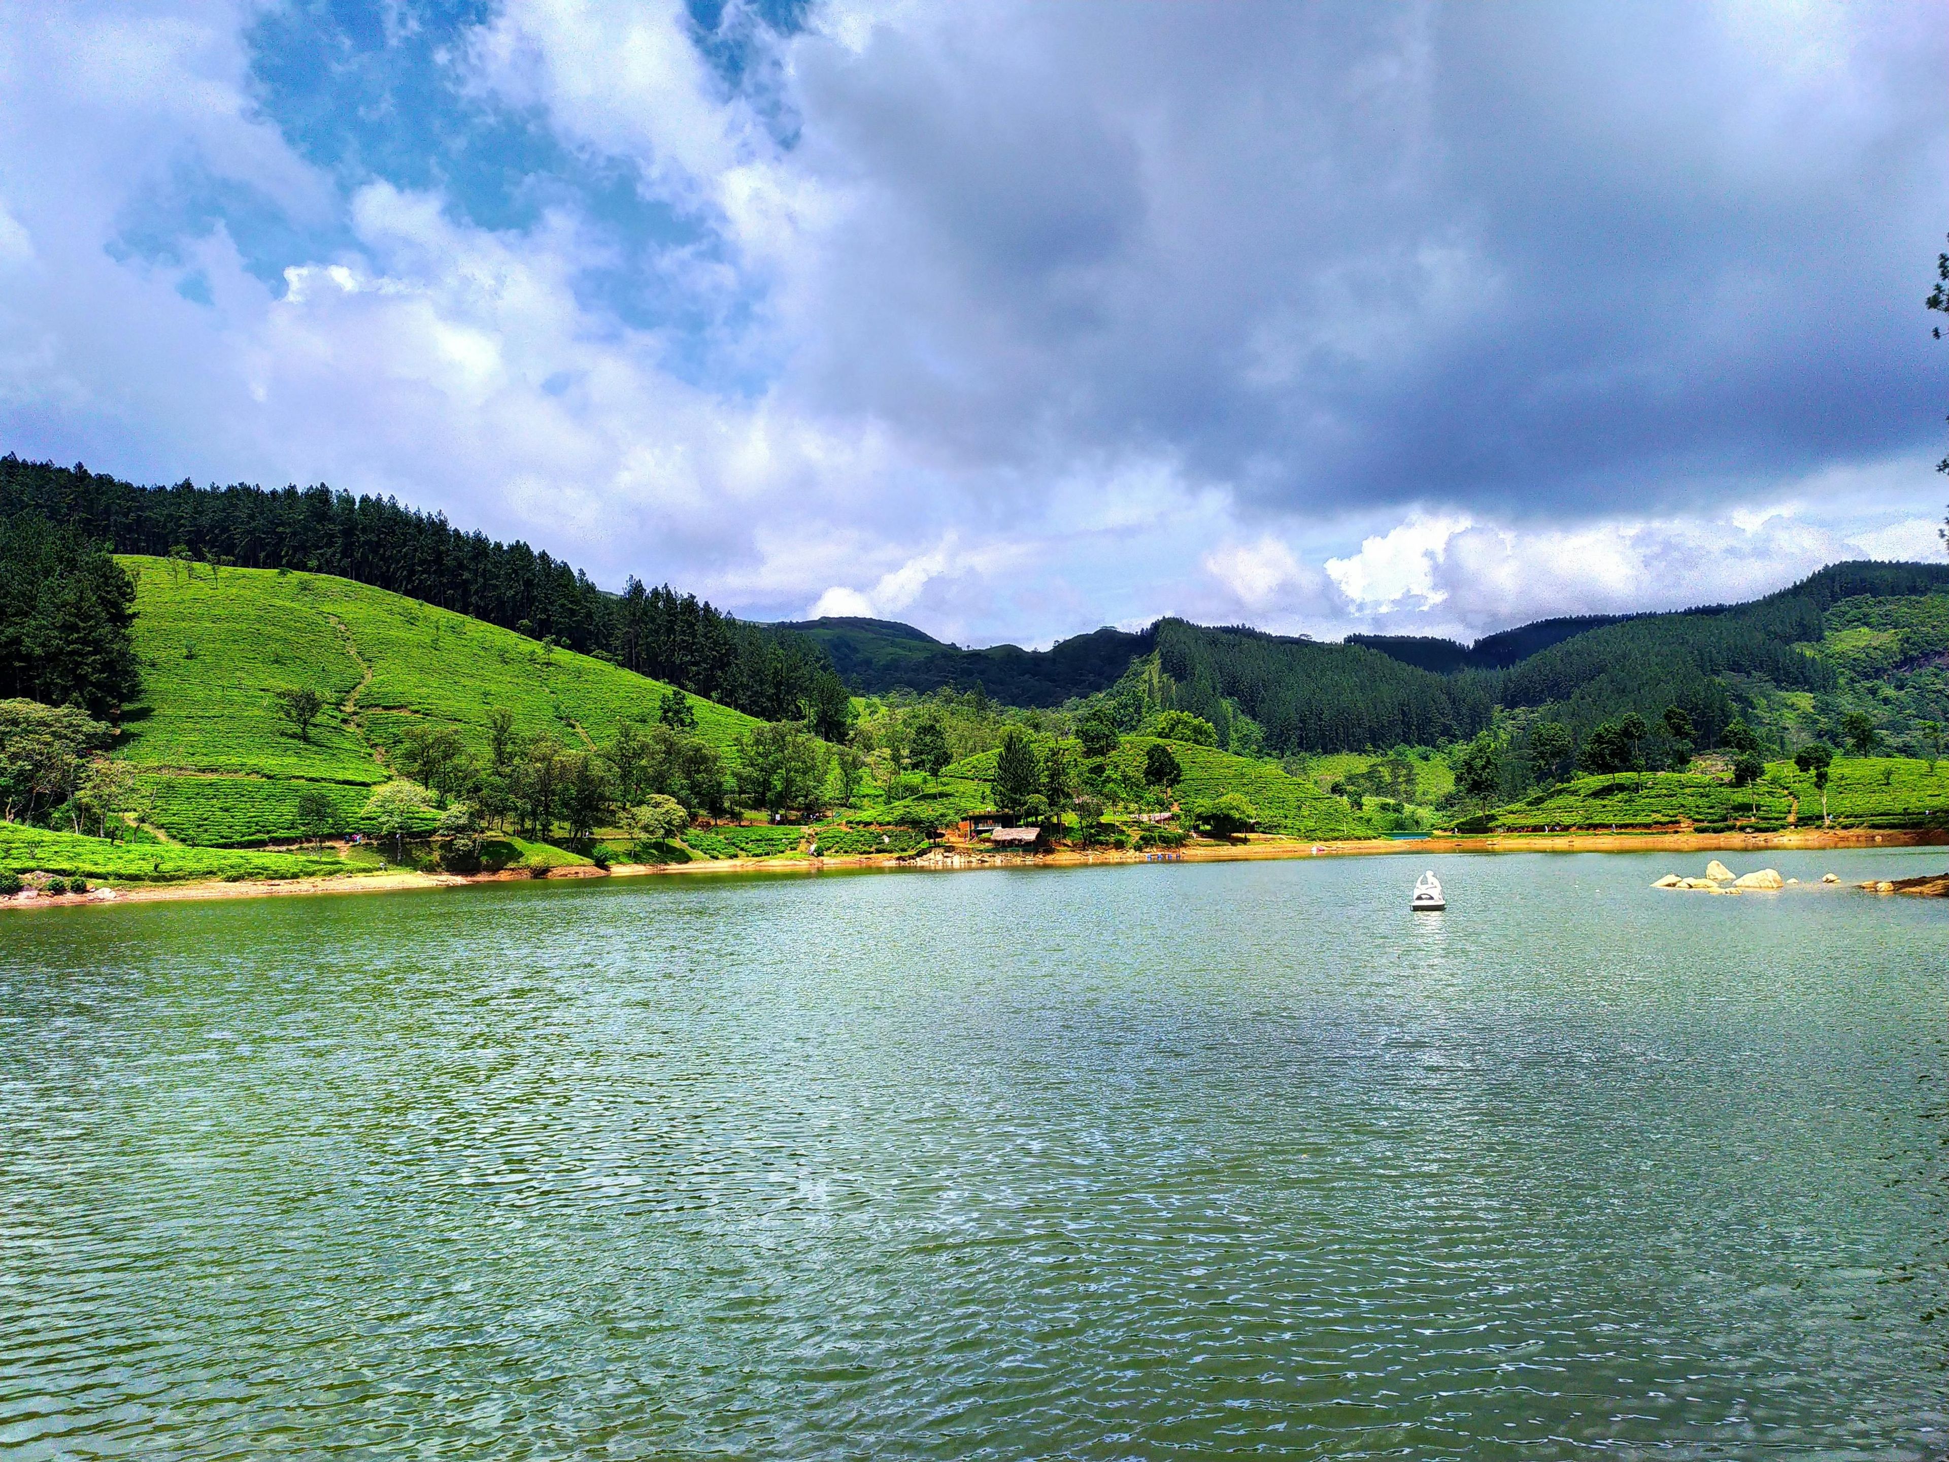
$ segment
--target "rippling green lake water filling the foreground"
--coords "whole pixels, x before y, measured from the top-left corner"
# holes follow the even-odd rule
[[[1941,1458],[1949,903],[1703,862],[0,918],[0,1454]]]

